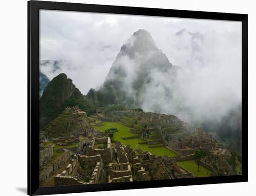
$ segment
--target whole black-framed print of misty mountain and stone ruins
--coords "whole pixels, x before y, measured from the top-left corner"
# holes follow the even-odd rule
[[[248,181],[248,15],[28,1],[28,194]]]

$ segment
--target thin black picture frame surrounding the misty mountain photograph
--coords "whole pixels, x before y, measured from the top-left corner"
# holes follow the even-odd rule
[[[172,180],[128,183],[103,183],[70,186],[39,186],[39,10],[65,10],[91,13],[116,13],[146,16],[164,16],[193,19],[242,21],[242,165],[243,174]],[[142,7],[121,7],[50,1],[27,2],[27,88],[28,88],[28,195],[47,195],[106,191],[120,189],[144,189],[155,187],[185,186],[196,184],[248,182],[248,14],[214,13]]]

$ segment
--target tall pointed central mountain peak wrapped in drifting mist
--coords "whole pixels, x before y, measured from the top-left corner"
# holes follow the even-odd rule
[[[143,92],[152,80],[151,72],[174,69],[162,50],[158,49],[150,33],[140,29],[121,46],[97,97],[103,105],[125,103],[139,106]]]

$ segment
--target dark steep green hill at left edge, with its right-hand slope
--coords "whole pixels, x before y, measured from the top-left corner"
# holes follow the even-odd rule
[[[58,117],[67,106],[75,105],[88,114],[96,109],[92,101],[75,87],[72,79],[61,73],[47,84],[40,98],[40,128],[43,129],[51,120]]]

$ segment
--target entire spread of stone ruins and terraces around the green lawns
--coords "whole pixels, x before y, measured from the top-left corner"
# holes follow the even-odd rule
[[[99,115],[98,118],[130,127],[136,137],[150,139],[143,144],[150,145],[150,148],[165,146],[178,156],[156,156],[119,142],[112,144],[110,137],[103,134],[95,137],[96,131],[88,123],[86,113],[77,107],[67,108],[47,127],[47,131],[40,132],[40,186],[47,185],[51,177],[54,177],[54,185],[191,178],[195,176],[176,161],[192,160],[196,150],[207,153],[200,164],[210,170],[212,176],[236,174],[228,163],[231,154],[226,144],[217,142],[202,128],[189,127],[175,116],[111,111],[108,116]],[[45,145],[48,140],[58,144],[60,149],[57,150],[64,153],[53,162],[50,161],[54,146]],[[74,143],[78,144],[68,149],[67,146]],[[56,174],[56,171],[60,172]]]

